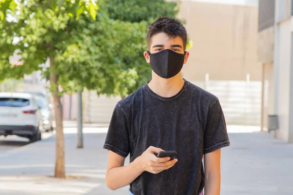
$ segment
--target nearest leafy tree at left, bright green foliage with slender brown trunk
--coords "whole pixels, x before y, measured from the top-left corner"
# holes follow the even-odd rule
[[[59,86],[63,86],[63,76],[68,74],[66,69],[83,65],[78,61],[70,61],[66,55],[72,50],[79,50],[84,58],[86,55],[89,57],[90,48],[80,46],[87,40],[78,35],[78,28],[85,20],[96,20],[97,9],[98,5],[94,0],[23,0],[17,3],[13,0],[0,1],[0,79],[22,78],[24,74],[42,69],[40,64],[50,60],[50,68],[44,71],[50,78],[55,105],[56,177],[65,177]],[[92,19],[87,18],[87,15]],[[84,20],[78,20],[79,18]],[[21,56],[22,66],[10,64],[9,56],[13,54]],[[62,58],[66,58],[69,63],[65,64]],[[78,77],[76,80],[80,83],[76,87],[81,87],[82,79]]]

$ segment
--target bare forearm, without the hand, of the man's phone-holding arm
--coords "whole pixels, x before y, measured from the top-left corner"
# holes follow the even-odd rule
[[[106,185],[111,190],[117,190],[132,183],[143,172],[138,160],[123,167],[114,167],[106,174]]]

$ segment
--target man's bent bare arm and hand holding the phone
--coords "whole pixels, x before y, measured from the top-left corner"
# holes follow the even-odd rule
[[[171,168],[178,160],[169,160],[169,157],[158,158],[154,153],[163,151],[150,146],[141,156],[124,166],[125,157],[109,151],[106,185],[111,190],[125,187],[132,183],[144,171],[158,174]]]

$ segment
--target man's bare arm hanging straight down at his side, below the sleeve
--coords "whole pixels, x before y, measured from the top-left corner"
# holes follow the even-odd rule
[[[204,155],[205,195],[220,195],[221,187],[221,149]]]

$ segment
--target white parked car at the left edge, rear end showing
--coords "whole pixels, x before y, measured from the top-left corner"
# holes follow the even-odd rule
[[[0,136],[27,137],[40,140],[42,114],[34,96],[25,93],[0,93]]]

